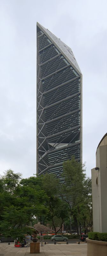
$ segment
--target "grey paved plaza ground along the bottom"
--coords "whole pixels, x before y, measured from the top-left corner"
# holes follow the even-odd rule
[[[0,243],[0,256],[86,256],[87,244],[46,244],[40,253],[30,254],[30,247],[14,247],[14,243]]]

